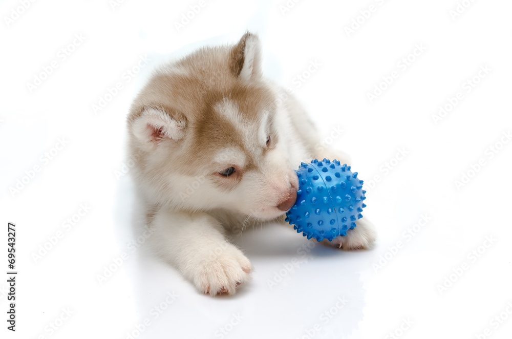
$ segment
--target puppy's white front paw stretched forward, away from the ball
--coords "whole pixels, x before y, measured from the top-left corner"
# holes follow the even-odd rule
[[[237,287],[251,279],[252,265],[241,250],[231,244],[211,248],[207,257],[194,268],[194,285],[202,292],[214,296],[234,294]]]

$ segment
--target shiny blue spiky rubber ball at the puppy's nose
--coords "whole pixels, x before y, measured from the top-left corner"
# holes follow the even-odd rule
[[[317,241],[346,236],[356,227],[366,207],[366,191],[357,172],[339,161],[312,160],[296,171],[299,187],[295,205],[286,213],[285,221],[294,224],[297,233]]]

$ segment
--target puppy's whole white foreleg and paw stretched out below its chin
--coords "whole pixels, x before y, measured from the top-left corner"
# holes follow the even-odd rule
[[[233,294],[250,280],[251,263],[225,240],[222,225],[210,215],[162,208],[153,225],[161,253],[203,293]]]

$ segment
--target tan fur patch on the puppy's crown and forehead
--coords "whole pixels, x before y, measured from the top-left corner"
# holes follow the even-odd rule
[[[240,48],[239,45],[232,51]],[[159,108],[170,117],[184,121],[188,133],[194,134],[194,142],[186,145],[191,162],[207,162],[209,150],[220,146],[232,144],[243,149],[238,131],[231,121],[215,112],[215,105],[229,98],[238,105],[244,118],[257,120],[262,109],[275,110],[275,99],[273,93],[258,82],[238,81],[240,71],[232,70],[232,65],[243,63],[243,54],[232,51],[228,47],[203,48],[178,61],[166,73],[157,72],[149,81],[151,86],[146,86],[134,100],[129,128],[145,107]],[[173,69],[180,71],[173,72]],[[132,152],[137,151],[136,144],[131,143],[131,147]],[[249,152],[247,154],[250,156]],[[248,168],[254,166],[255,159],[250,158]],[[188,171],[190,167],[188,163],[177,169],[197,174],[197,171]]]

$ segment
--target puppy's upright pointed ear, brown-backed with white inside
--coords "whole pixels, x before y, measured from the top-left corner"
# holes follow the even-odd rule
[[[231,49],[229,69],[242,80],[261,77],[261,46],[258,35],[247,32],[242,36]]]

